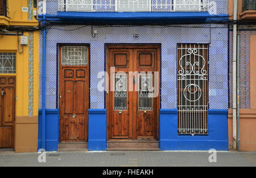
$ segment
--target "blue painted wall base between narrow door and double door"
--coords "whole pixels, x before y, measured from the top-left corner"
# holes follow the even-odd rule
[[[89,109],[88,150],[106,150],[106,109]]]

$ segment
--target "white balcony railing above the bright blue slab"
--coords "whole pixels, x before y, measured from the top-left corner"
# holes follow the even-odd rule
[[[59,11],[171,12],[208,11],[209,0],[59,0]]]

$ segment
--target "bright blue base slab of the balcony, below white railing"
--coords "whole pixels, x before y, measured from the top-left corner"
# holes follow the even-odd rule
[[[39,15],[39,20],[43,16]],[[209,12],[57,12],[46,15],[53,22],[72,23],[185,23],[229,20],[228,14],[209,15]]]

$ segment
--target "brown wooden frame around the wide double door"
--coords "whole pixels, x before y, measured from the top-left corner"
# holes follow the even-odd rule
[[[157,67],[157,71],[159,72],[159,94],[158,97],[156,99],[156,140],[159,140],[159,109],[160,109],[160,83],[161,83],[161,77],[160,77],[160,60],[161,60],[161,44],[105,44],[105,69],[106,72],[109,74],[109,84],[108,84],[108,89],[110,89],[110,54],[109,54],[109,49],[111,48],[131,48],[131,49],[138,49],[138,48],[156,48],[157,49],[157,57],[158,59],[156,59],[157,63],[156,63],[156,67]],[[105,80],[106,81],[106,80]],[[106,83],[106,82],[105,82]],[[109,129],[110,129],[110,90],[109,92],[106,92],[106,139],[107,141],[110,140],[110,133],[109,133]],[[134,132],[134,131],[133,131]],[[134,134],[134,133],[133,133]],[[117,139],[118,140],[118,139]],[[124,140],[124,139],[121,139]],[[130,140],[130,139],[128,139]]]

